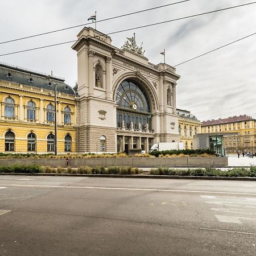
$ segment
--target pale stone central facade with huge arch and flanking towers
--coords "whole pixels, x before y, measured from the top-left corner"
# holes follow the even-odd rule
[[[142,54],[111,43],[109,36],[85,27],[72,46],[78,61],[77,152],[148,151],[152,143],[179,141],[176,81],[180,76],[175,68],[154,65]],[[123,105],[117,102],[121,83],[135,88],[120,96]]]

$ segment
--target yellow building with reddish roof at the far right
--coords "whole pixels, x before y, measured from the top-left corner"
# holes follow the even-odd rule
[[[203,121],[201,133],[224,135],[226,154],[236,154],[238,150],[256,152],[256,119],[248,115]]]

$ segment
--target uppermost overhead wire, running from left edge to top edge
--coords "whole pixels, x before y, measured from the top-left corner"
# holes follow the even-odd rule
[[[168,3],[168,5],[161,5],[161,6],[156,6],[156,7],[152,7],[152,8],[149,8],[149,9],[144,9],[144,10],[141,10],[141,11],[134,11],[133,13],[122,14],[122,15],[118,15],[118,16],[114,16],[114,17],[110,17],[110,18],[106,18],[106,19],[97,20],[97,23],[104,22],[106,20],[122,18],[122,17],[125,17],[125,16],[133,15],[133,14],[143,13],[145,11],[151,11],[151,10],[155,10],[155,9],[159,9],[159,8],[163,8],[163,7],[167,7],[167,6],[171,6],[171,5],[177,5],[179,3],[184,3],[184,2],[189,2],[189,1],[191,1],[191,0],[184,0],[184,1],[179,1],[179,2],[175,2],[175,3]],[[71,28],[82,27],[82,26],[85,26],[85,25],[88,25],[88,24],[92,24],[92,23],[89,22],[89,23],[85,23],[85,24],[72,26],[72,27],[60,28],[59,30],[52,30],[52,31],[48,31],[48,32],[44,32],[44,33],[40,33],[40,34],[36,34],[36,35],[24,36],[23,38],[17,38],[17,39],[8,40],[8,41],[5,41],[5,42],[0,42],[0,44],[6,44],[6,43],[19,41],[19,40],[28,39],[28,38],[34,38],[36,36],[48,35],[48,34],[52,34],[52,33],[55,33],[55,32],[70,30]]]

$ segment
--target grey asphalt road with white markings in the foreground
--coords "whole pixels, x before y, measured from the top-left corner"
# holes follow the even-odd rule
[[[256,183],[0,176],[0,255],[256,255]]]

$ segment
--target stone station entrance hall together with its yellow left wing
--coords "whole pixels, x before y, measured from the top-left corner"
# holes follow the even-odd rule
[[[135,34],[121,48],[109,36],[83,28],[77,52],[77,85],[0,64],[0,151],[121,152],[179,141],[175,68],[152,64]]]

